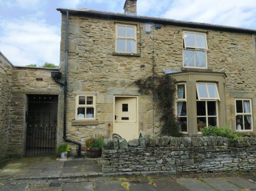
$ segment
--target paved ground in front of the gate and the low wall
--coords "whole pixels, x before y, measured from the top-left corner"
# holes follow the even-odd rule
[[[0,191],[256,191],[255,173],[196,177],[84,176],[100,173],[100,164],[95,159],[60,162],[53,157],[10,160],[0,164]]]

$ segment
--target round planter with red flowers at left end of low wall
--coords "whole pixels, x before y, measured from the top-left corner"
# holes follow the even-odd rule
[[[100,158],[104,137],[102,135],[95,135],[85,140],[86,156],[88,158]]]

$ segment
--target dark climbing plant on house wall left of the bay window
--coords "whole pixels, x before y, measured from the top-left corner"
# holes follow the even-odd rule
[[[175,79],[170,75],[154,75],[135,81],[139,92],[143,95],[152,95],[161,111],[161,135],[179,137],[179,127],[174,113]]]

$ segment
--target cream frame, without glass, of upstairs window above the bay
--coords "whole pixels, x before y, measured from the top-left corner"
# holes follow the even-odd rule
[[[186,42],[185,42],[185,33],[204,35],[206,48],[201,48],[201,47],[196,47],[196,46],[187,46]],[[183,43],[184,43],[184,48],[183,48],[183,51],[182,51],[182,60],[183,60],[182,64],[183,64],[183,67],[195,68],[195,69],[207,69],[208,68],[208,62],[207,62],[208,44],[207,44],[206,34],[203,33],[203,32],[183,31],[182,36],[183,36]],[[184,50],[193,50],[193,52],[194,52],[194,66],[185,66],[184,65]],[[205,67],[198,67],[198,66],[196,66],[196,50],[204,51],[205,52]]]

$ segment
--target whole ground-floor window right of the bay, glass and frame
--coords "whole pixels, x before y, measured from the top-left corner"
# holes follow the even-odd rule
[[[253,114],[251,100],[236,100],[236,129],[237,131],[253,130]]]

